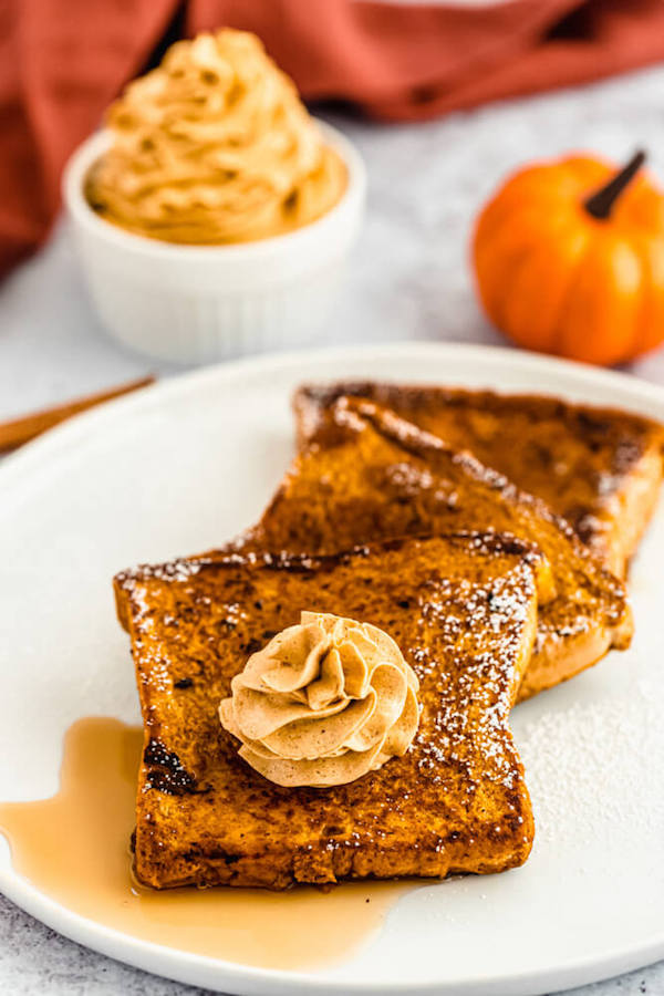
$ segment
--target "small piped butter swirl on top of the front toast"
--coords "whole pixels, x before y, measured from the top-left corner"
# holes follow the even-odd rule
[[[344,785],[406,753],[418,682],[370,623],[302,612],[253,654],[219,707],[240,756],[282,786]]]

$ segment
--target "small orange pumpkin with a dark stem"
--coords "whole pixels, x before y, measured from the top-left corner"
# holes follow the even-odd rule
[[[477,287],[509,339],[604,365],[664,340],[664,195],[644,158],[618,174],[579,155],[530,166],[486,205]]]

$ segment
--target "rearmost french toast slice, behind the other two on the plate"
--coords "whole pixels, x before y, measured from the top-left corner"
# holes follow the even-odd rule
[[[302,386],[293,400],[301,446],[342,395],[374,401],[453,448],[469,449],[542,498],[623,574],[662,483],[663,426],[553,397],[370,381]]]

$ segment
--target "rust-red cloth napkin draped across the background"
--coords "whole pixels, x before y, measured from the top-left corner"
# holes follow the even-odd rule
[[[43,240],[68,156],[174,23],[188,34],[256,31],[307,98],[350,101],[390,121],[664,59],[662,0],[4,0],[0,274]]]

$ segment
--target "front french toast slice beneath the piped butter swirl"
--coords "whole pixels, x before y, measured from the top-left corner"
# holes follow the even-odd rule
[[[115,581],[145,725],[135,868],[158,889],[497,872],[533,824],[509,712],[548,564],[513,537],[401,539],[333,557],[229,554]],[[249,767],[218,706],[248,656],[300,611],[370,622],[419,679],[411,748],[329,788]]]

